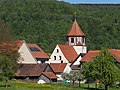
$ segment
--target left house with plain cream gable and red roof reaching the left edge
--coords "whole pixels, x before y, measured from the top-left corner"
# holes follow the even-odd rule
[[[19,64],[36,64],[37,60],[33,57],[25,40],[7,41],[0,44],[0,52],[16,51],[19,54]]]

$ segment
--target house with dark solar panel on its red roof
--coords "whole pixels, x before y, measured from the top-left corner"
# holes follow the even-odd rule
[[[46,63],[49,60],[49,56],[45,53],[37,44],[27,44],[32,55],[38,63]]]

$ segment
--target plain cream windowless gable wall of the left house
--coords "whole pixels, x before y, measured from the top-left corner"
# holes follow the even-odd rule
[[[18,53],[20,53],[20,60],[22,64],[35,64],[37,63],[36,59],[32,56],[30,50],[28,49],[27,45],[25,43],[22,44],[20,49],[18,50]]]

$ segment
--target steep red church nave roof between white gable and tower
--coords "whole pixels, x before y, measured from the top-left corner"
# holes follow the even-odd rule
[[[62,53],[69,62],[73,62],[77,58],[78,54],[73,48],[73,46],[69,46],[69,45],[58,45],[58,46],[60,47]]]

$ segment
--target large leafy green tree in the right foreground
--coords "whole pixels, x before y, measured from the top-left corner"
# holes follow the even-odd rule
[[[92,80],[99,80],[100,83],[104,84],[105,90],[108,90],[108,86],[118,80],[120,73],[120,70],[115,64],[114,58],[107,50],[101,51],[92,62],[86,64],[85,71],[90,72]],[[88,79],[89,77],[86,78]]]

